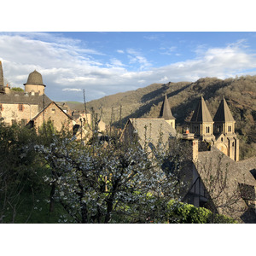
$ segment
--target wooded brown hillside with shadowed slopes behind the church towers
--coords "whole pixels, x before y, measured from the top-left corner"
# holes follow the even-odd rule
[[[102,108],[103,121],[107,124],[112,122],[123,128],[130,117],[158,117],[165,93],[168,96],[172,114],[177,119],[177,131],[179,132],[189,125],[200,96],[206,100],[212,119],[224,96],[236,119],[241,159],[256,154],[256,76],[224,80],[204,78],[195,83],[150,84],[144,88],[88,102],[87,108],[94,108],[96,112]],[[84,104],[75,104],[70,107],[84,109]]]

